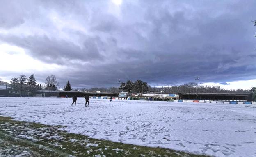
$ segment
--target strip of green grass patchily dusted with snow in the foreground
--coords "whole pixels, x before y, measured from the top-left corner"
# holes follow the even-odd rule
[[[10,117],[0,116],[0,139],[4,140],[7,145],[29,148],[39,157],[208,157],[165,148],[92,139],[84,135],[59,130],[63,127],[15,121]],[[0,145],[0,147],[4,146]]]

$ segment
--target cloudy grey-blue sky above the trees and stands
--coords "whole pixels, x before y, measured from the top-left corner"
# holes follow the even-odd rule
[[[0,78],[256,85],[255,0],[1,0]],[[227,85],[224,85],[227,84]]]

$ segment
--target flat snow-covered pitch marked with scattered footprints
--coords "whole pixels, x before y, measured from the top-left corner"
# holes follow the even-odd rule
[[[92,138],[217,157],[256,157],[256,106],[78,98],[0,98],[0,115]]]

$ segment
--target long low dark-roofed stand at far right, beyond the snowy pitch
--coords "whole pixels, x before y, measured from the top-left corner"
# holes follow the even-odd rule
[[[251,101],[250,93],[178,93],[179,99],[197,100],[247,100]]]

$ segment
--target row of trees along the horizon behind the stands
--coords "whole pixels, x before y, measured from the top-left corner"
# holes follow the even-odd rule
[[[11,78],[11,90],[12,91],[36,91],[40,89],[44,90],[57,90],[59,82],[57,82],[55,75],[50,75],[46,77],[45,85],[37,84],[34,74],[30,77],[26,77],[24,74],[20,77]],[[129,93],[162,93],[162,94],[178,94],[178,93],[251,93],[252,98],[256,101],[256,87],[253,86],[251,89],[224,89],[220,86],[203,86],[198,85],[196,82],[189,82],[186,84],[168,86],[168,87],[151,87],[147,82],[142,80],[137,80],[135,82],[127,80],[126,82],[121,82],[119,88],[71,88],[71,84],[68,81],[66,86],[64,86],[64,91],[87,91],[87,92],[129,92]]]

